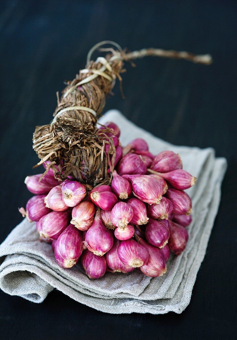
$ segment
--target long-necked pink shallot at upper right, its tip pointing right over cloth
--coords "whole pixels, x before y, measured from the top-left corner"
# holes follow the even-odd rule
[[[177,169],[166,173],[161,173],[161,176],[169,182],[175,189],[185,190],[192,187],[196,182],[196,177],[190,175],[189,172],[183,169]]]

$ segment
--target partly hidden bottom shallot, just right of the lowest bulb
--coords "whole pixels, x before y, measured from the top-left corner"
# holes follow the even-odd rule
[[[129,273],[133,271],[134,268],[124,265],[118,257],[117,249],[119,244],[120,241],[115,238],[112,248],[105,254],[107,265],[113,272]]]

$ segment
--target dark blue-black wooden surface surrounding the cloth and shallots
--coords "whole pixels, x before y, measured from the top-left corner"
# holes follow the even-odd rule
[[[117,84],[106,110],[120,109],[171,143],[213,147],[228,161],[206,256],[182,314],[110,315],[58,291],[40,305],[1,291],[1,339],[236,337],[236,37],[236,1],[1,1],[0,242],[31,197],[24,178],[37,172],[35,125],[51,120],[56,91],[85,67],[98,41],[211,53],[211,66],[152,57],[126,65],[126,98]]]

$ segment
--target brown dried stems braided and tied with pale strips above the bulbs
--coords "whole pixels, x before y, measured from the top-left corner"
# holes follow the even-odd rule
[[[103,44],[112,44],[117,50],[107,49],[110,54],[90,61],[91,54]],[[104,49],[106,50],[106,49]],[[88,185],[88,187],[110,184],[114,168],[115,147],[113,139],[106,133],[112,132],[106,127],[97,129],[97,118],[105,106],[105,97],[112,90],[115,79],[120,77],[123,61],[159,55],[182,58],[195,63],[209,64],[211,57],[195,56],[186,52],[147,49],[125,53],[120,46],[111,41],[95,45],[88,53],[86,69],[80,70],[76,78],[68,82],[62,91],[50,124],[36,126],[33,134],[33,149],[41,161],[51,163],[55,176],[61,180],[67,176]],[[106,144],[108,146],[105,148]],[[106,149],[106,150],[105,150]],[[54,167],[58,165],[58,169]],[[45,174],[44,173],[44,174]]]

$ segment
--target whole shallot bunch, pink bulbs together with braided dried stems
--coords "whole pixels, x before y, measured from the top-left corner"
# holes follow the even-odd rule
[[[99,46],[106,57],[91,61]],[[123,62],[145,55],[210,64],[209,55],[143,49],[125,53],[111,41],[95,45],[85,69],[67,82],[50,124],[36,126],[33,149],[45,171],[28,176],[35,196],[20,208],[36,222],[39,239],[52,244],[55,260],[71,268],[80,259],[90,278],[135,268],[151,277],[166,272],[170,251],[181,254],[192,202],[184,191],[196,178],[182,169],[178,154],[153,155],[138,138],[124,148],[113,122],[97,126],[106,95],[121,80]]]

